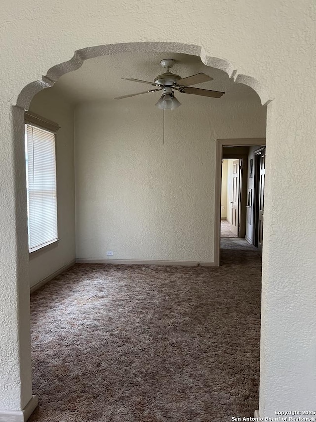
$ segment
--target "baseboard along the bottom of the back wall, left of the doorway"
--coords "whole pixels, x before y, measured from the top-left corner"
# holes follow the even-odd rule
[[[155,261],[155,260],[139,260],[139,259],[86,259],[77,258],[76,262],[83,264],[127,264],[127,265],[183,265],[183,266],[202,266],[215,267],[215,262],[207,261]]]

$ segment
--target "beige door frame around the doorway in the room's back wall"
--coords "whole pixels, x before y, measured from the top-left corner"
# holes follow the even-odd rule
[[[223,146],[256,146],[256,145],[262,146],[265,144],[266,144],[266,138],[228,138],[228,139],[225,138],[225,139],[216,140],[214,265],[217,267],[219,267],[220,265],[220,250],[221,250],[221,191],[222,191]],[[246,187],[242,186],[242,189],[243,190],[247,189],[247,186]]]

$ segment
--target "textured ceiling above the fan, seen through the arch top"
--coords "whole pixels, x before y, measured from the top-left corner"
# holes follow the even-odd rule
[[[153,81],[155,76],[165,70],[160,66],[160,60],[173,58],[173,73],[186,77],[204,72],[214,78],[213,81],[196,85],[199,88],[225,91],[220,101],[260,101],[252,88],[237,84],[222,70],[205,66],[197,56],[172,53],[124,53],[108,55],[86,60],[80,69],[63,75],[53,87],[73,103],[85,101],[113,100],[116,96],[133,94],[151,89],[150,85],[125,81],[121,78],[136,78]],[[153,87],[154,88],[154,87]],[[144,94],[143,101],[158,100],[160,94]],[[176,93],[181,102],[189,100],[193,95]],[[196,98],[197,96],[194,95]],[[122,99],[120,101],[135,101],[140,97]],[[154,98],[153,98],[154,97]],[[187,99],[184,99],[186,97]],[[201,97],[198,97],[201,99]],[[210,101],[218,99],[208,98]]]

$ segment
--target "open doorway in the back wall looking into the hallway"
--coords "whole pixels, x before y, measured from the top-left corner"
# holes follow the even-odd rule
[[[218,140],[218,258],[221,248],[263,244],[265,139]]]

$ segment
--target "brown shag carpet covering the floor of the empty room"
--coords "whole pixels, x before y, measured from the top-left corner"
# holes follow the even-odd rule
[[[30,422],[217,422],[258,408],[256,250],[222,265],[76,264],[31,296]]]

